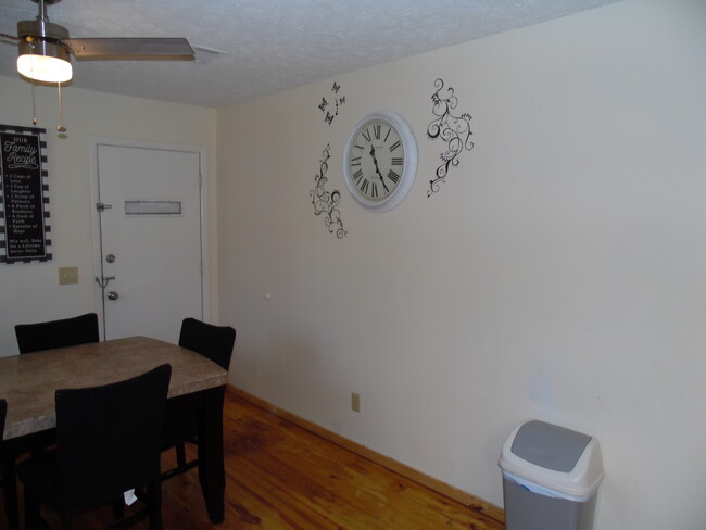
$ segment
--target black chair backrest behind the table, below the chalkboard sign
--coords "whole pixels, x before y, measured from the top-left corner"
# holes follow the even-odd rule
[[[75,346],[88,342],[98,342],[98,315],[86,315],[61,320],[37,324],[18,324],[15,336],[20,353],[53,350],[54,348]]]

